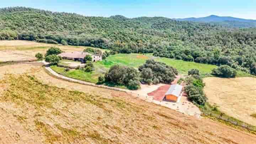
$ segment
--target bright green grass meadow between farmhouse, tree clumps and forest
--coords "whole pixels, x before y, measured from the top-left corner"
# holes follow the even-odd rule
[[[98,77],[104,75],[111,68],[111,66],[119,64],[125,66],[131,66],[133,68],[138,68],[143,65],[146,60],[154,59],[159,62],[166,63],[167,65],[176,68],[180,74],[187,74],[187,71],[193,68],[198,69],[202,74],[210,74],[210,71],[217,68],[215,65],[209,64],[199,64],[195,62],[185,62],[183,60],[175,60],[168,58],[154,57],[152,54],[115,54],[110,55],[105,60],[94,63],[95,70],[91,72],[85,72],[83,70],[71,69],[70,71],[65,71],[65,68],[60,68],[58,66],[51,66],[51,68],[59,74],[67,76],[69,78],[74,78],[82,81],[97,83]],[[111,84],[106,84],[111,85]],[[119,86],[118,86],[119,87]]]

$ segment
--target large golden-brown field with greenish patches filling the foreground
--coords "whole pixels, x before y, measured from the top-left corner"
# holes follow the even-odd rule
[[[1,144],[256,142],[255,135],[126,92],[53,78],[36,63],[1,69]]]

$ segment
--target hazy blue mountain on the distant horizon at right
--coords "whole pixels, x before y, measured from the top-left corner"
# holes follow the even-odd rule
[[[193,22],[206,22],[216,23],[228,27],[256,27],[256,20],[247,20],[243,18],[236,18],[230,16],[216,16],[210,15],[207,17],[190,17],[190,18],[174,18],[177,21],[193,21]]]

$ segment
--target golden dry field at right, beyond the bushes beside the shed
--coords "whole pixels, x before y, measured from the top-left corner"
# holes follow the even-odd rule
[[[220,111],[256,126],[256,78],[234,79],[205,78],[204,88],[209,102],[219,106]]]

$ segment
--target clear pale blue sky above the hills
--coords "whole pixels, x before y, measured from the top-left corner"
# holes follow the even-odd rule
[[[5,0],[0,7],[26,6],[86,16],[233,16],[256,20],[256,0]]]

